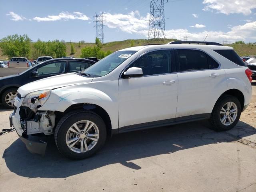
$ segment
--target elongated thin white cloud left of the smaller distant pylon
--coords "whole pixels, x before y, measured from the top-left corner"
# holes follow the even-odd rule
[[[48,15],[47,17],[34,17],[33,20],[40,22],[40,21],[57,21],[57,20],[90,20],[89,17],[80,13],[80,12],[61,12],[58,15]]]

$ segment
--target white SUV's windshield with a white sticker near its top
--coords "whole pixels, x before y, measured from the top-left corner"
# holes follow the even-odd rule
[[[137,51],[117,51],[109,56],[106,56],[102,60],[98,61],[97,63],[93,64],[89,68],[83,70],[81,73],[86,73],[92,77],[102,77],[116,67],[118,67],[122,62],[128,59]]]

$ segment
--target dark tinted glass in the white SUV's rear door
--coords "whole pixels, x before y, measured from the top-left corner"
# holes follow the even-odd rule
[[[207,55],[198,50],[177,49],[180,71],[209,69]]]

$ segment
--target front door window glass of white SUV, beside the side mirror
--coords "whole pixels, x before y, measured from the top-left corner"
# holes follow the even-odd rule
[[[142,68],[143,76],[165,74],[171,72],[171,52],[170,50],[153,51],[141,56],[128,68]]]

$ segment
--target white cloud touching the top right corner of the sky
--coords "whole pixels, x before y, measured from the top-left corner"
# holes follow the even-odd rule
[[[217,13],[242,13],[249,15],[256,8],[256,0],[204,0],[204,11],[217,10]]]

